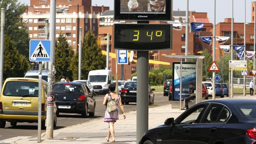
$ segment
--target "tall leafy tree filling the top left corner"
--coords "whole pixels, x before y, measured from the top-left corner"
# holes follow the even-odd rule
[[[0,0],[0,7],[5,8],[5,34],[10,37],[13,46],[17,47],[20,54],[29,56],[29,33],[23,28],[22,14],[26,5],[18,0]]]

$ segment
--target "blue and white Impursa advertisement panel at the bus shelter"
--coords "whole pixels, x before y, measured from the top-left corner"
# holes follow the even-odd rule
[[[179,101],[180,62],[172,63],[172,101]],[[182,99],[189,96],[189,85],[196,87],[196,63],[182,63]]]

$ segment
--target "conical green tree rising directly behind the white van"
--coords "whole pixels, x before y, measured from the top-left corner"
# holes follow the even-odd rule
[[[81,79],[87,79],[89,71],[105,69],[106,58],[98,47],[97,37],[88,31],[82,45]]]

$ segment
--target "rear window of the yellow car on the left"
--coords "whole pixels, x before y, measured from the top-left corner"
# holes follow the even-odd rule
[[[9,81],[3,95],[11,97],[38,97],[38,82]]]

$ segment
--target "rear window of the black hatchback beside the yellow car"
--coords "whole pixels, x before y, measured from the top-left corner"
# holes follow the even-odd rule
[[[81,87],[79,85],[54,85],[54,91],[56,93],[64,93],[64,92],[82,92]]]

